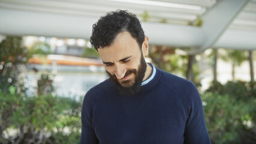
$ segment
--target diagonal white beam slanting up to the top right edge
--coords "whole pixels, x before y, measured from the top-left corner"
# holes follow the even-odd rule
[[[200,53],[212,47],[247,2],[248,0],[222,0],[206,11],[202,17],[203,26],[201,27],[204,31],[204,43],[199,49],[191,49],[189,53]]]

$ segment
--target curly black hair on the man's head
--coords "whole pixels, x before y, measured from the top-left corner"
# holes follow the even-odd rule
[[[120,32],[128,31],[133,38],[142,46],[145,34],[141,22],[135,14],[127,10],[110,11],[100,17],[93,25],[93,34],[90,42],[97,50],[100,47],[110,46]]]

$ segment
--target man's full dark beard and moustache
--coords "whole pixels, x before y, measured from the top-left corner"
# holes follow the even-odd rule
[[[141,83],[145,76],[145,71],[147,68],[147,63],[145,62],[145,59],[141,52],[141,61],[138,67],[138,70],[136,69],[127,69],[126,74],[124,77],[129,76],[130,74],[135,74],[135,78],[133,80],[124,80],[123,82],[118,82],[117,77],[115,74],[110,74],[108,71],[106,73],[109,76],[109,79],[115,85],[118,89],[119,94],[121,95],[133,95],[136,92],[138,92],[141,89]]]

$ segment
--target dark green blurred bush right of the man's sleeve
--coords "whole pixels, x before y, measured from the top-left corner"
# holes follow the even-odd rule
[[[202,99],[207,103],[204,110],[213,142],[256,142],[255,82],[213,82]]]

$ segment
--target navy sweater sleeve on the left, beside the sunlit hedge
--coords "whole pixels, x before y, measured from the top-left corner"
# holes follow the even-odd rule
[[[95,100],[93,98],[93,95],[91,95],[91,92],[87,92],[82,105],[82,112],[81,112],[82,133],[81,133],[79,144],[99,143],[99,140],[96,137],[93,124],[92,124],[94,103],[95,103]]]

